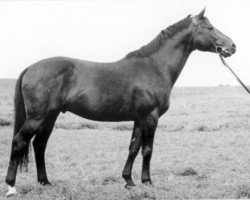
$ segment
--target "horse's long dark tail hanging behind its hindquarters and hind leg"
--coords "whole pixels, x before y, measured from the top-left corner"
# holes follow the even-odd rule
[[[26,73],[28,68],[26,68],[19,76],[16,82],[16,88],[15,88],[15,98],[14,98],[14,135],[13,140],[17,136],[19,130],[23,127],[25,120],[26,120],[26,112],[25,112],[25,106],[24,106],[24,100],[23,100],[23,94],[22,94],[22,79],[24,74]],[[29,160],[29,146],[30,141],[28,141],[28,144],[23,146],[22,153],[19,155],[19,165],[20,169],[22,170],[22,166],[26,166],[28,164]]]

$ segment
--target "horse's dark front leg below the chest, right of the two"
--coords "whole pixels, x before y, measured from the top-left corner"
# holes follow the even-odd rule
[[[150,160],[153,152],[153,142],[155,129],[158,123],[158,112],[154,110],[151,114],[145,117],[143,120],[142,128],[142,174],[141,180],[142,183],[152,185],[150,178]]]

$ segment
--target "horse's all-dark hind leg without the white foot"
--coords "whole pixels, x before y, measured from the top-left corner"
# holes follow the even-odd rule
[[[46,173],[44,154],[48,139],[51,135],[58,114],[59,112],[53,112],[47,115],[42,125],[42,131],[36,134],[35,139],[33,140],[37,168],[37,180],[42,185],[50,185]]]

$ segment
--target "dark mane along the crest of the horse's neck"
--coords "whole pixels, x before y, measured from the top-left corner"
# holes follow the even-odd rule
[[[147,45],[142,46],[140,49],[132,51],[126,55],[126,58],[131,57],[146,57],[149,56],[156,51],[158,51],[162,45],[164,44],[164,40],[167,38],[171,38],[180,30],[187,28],[191,22],[191,17],[188,15],[186,18],[181,21],[169,26],[168,28],[162,30],[155,39],[149,42]]]

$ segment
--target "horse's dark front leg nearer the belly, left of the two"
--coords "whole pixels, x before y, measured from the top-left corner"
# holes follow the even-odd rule
[[[131,137],[131,142],[129,146],[129,155],[127,158],[127,162],[124,166],[122,177],[127,182],[126,188],[130,186],[135,186],[132,178],[131,178],[131,171],[134,164],[134,160],[141,148],[141,127],[139,122],[134,123],[134,129]]]

